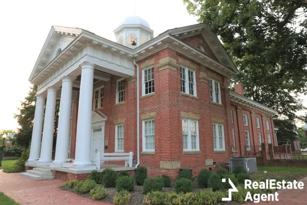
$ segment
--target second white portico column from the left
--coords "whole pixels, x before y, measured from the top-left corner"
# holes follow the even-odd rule
[[[45,111],[45,120],[43,121],[41,150],[38,163],[49,164],[52,162],[52,144],[54,132],[54,117],[56,104],[56,89],[47,88],[47,103]]]

